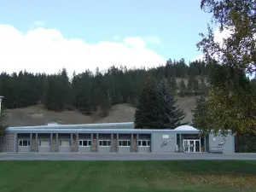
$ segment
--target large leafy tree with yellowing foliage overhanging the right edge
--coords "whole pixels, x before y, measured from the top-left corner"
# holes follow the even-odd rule
[[[253,0],[201,0],[201,9],[212,14],[212,24],[228,32],[216,42],[212,26],[197,44],[211,67],[208,96],[209,128],[225,134],[253,132],[256,126],[256,91],[246,73],[256,71],[256,3]]]

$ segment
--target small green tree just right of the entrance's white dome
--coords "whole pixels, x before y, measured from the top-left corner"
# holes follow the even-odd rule
[[[193,113],[193,126],[207,134],[208,129],[208,108],[207,99],[204,95],[196,96],[195,108],[191,110]]]

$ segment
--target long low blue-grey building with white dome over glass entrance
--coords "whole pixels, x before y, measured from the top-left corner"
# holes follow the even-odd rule
[[[9,127],[0,151],[12,153],[234,153],[232,135],[199,137],[189,125],[175,130],[138,130],[134,123]]]

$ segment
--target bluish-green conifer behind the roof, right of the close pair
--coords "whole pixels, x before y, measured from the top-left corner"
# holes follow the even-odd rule
[[[188,122],[182,123],[186,114],[177,105],[172,93],[172,87],[167,83],[166,79],[162,79],[157,86],[158,99],[160,101],[160,109],[162,122],[165,129],[175,129],[179,125],[186,125]]]

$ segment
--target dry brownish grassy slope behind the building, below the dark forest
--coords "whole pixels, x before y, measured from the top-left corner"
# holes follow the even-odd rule
[[[177,98],[177,102],[184,112],[187,113],[186,119],[192,119],[190,108],[195,105],[195,97]],[[49,122],[61,124],[90,124],[90,123],[115,123],[129,122],[134,120],[135,108],[127,104],[115,105],[111,108],[107,117],[98,119],[96,115],[87,116],[78,111],[52,112],[43,106],[32,106],[29,108],[9,109],[9,126],[25,125],[46,125]]]

